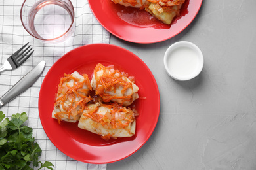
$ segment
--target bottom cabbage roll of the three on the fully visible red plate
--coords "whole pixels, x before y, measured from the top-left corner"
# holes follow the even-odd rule
[[[131,137],[135,134],[135,112],[118,103],[89,104],[78,127],[100,135],[103,139]]]

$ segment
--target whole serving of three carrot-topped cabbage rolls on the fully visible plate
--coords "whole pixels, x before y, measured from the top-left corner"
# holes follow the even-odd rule
[[[135,116],[138,115],[133,101],[139,98],[135,78],[98,63],[90,81],[87,74],[77,71],[60,78],[52,117],[60,123],[78,122],[78,127],[110,137],[131,137],[135,134]]]

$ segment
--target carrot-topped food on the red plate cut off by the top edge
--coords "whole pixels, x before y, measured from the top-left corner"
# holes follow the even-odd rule
[[[112,0],[124,6],[145,9],[165,24],[171,24],[175,16],[180,15],[185,0]]]

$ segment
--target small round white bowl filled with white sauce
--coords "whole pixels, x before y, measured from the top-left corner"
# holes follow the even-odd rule
[[[175,80],[190,80],[203,69],[203,54],[192,42],[180,41],[169,46],[163,58],[165,69]]]

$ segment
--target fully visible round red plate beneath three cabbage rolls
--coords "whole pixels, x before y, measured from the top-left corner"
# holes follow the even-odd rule
[[[114,65],[116,69],[135,76],[139,86],[136,105],[136,134],[133,137],[104,141],[99,135],[79,129],[77,123],[58,124],[51,118],[60,78],[64,73],[87,73],[91,78],[97,63]],[[45,133],[64,154],[86,163],[112,163],[127,158],[146,143],[154,131],[160,112],[158,85],[146,64],[132,52],[110,44],[89,44],[75,48],[58,59],[49,69],[39,93],[39,116]]]

